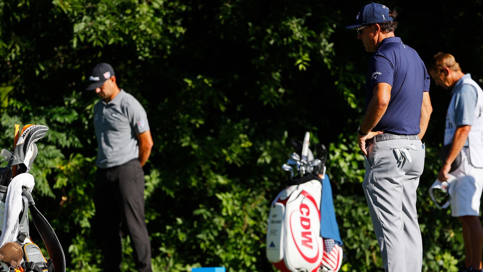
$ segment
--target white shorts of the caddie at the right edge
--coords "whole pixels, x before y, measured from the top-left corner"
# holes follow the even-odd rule
[[[469,149],[461,151],[461,165],[451,172],[456,181],[451,194],[451,215],[454,217],[480,216],[483,189],[483,168],[475,168],[469,161]]]

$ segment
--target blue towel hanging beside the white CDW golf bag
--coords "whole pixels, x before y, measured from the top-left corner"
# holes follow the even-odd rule
[[[342,245],[339,225],[335,219],[334,202],[332,202],[332,187],[329,177],[325,176],[322,180],[322,199],[320,201],[320,236],[324,239],[334,239]]]

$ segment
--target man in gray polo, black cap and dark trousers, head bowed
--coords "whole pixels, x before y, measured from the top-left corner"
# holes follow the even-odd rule
[[[126,224],[136,269],[151,272],[151,246],[144,217],[144,172],[153,147],[146,111],[119,89],[114,69],[99,63],[86,90],[102,98],[94,106],[98,172],[94,189],[96,229],[102,229],[104,271],[121,271],[121,223]],[[102,226],[102,227],[100,227]]]

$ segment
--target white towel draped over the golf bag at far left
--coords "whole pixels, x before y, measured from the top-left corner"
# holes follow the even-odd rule
[[[22,212],[22,186],[25,186],[29,192],[32,192],[34,185],[34,178],[29,173],[17,175],[8,185],[0,247],[7,242],[17,241],[18,216]]]

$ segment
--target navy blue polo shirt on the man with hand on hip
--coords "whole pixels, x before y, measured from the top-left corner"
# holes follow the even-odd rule
[[[391,85],[391,100],[381,121],[372,131],[419,134],[423,92],[429,91],[429,75],[418,53],[404,45],[399,37],[382,40],[369,59],[365,86],[366,111],[374,86],[382,82]]]

